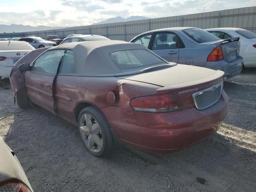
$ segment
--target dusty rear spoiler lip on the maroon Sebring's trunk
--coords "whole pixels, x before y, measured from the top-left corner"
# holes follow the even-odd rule
[[[194,86],[197,84],[206,83],[206,82],[210,82],[212,80],[216,80],[216,79],[222,77],[223,75],[224,75],[223,71],[217,70],[216,73],[214,73],[210,76],[207,76],[205,78],[198,79],[198,80],[191,81],[191,82],[182,83],[182,84],[161,87],[161,88],[157,89],[156,91],[157,92],[169,92],[169,91],[173,91],[176,89],[182,89],[182,88],[186,88],[189,86]]]

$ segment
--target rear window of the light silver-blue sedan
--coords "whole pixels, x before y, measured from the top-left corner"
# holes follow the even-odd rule
[[[207,31],[204,31],[200,28],[190,28],[183,30],[190,38],[198,43],[210,42],[210,41],[218,41],[220,38],[210,34]]]

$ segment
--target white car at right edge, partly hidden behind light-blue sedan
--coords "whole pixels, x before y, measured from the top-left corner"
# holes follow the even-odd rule
[[[256,34],[241,28],[205,29],[221,39],[240,37],[240,56],[244,58],[244,67],[256,67]]]

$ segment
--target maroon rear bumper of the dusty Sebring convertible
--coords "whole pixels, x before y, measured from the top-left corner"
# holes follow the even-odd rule
[[[101,109],[118,138],[142,150],[168,153],[190,146],[214,134],[228,112],[223,91],[213,106],[187,108],[169,113],[142,113],[117,106]]]

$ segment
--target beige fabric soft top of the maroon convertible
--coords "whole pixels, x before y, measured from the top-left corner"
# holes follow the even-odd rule
[[[118,74],[120,69],[116,66],[109,54],[121,50],[144,49],[142,44],[128,43],[118,40],[88,41],[60,44],[52,47],[54,49],[71,49],[74,51],[77,74],[103,75]]]

